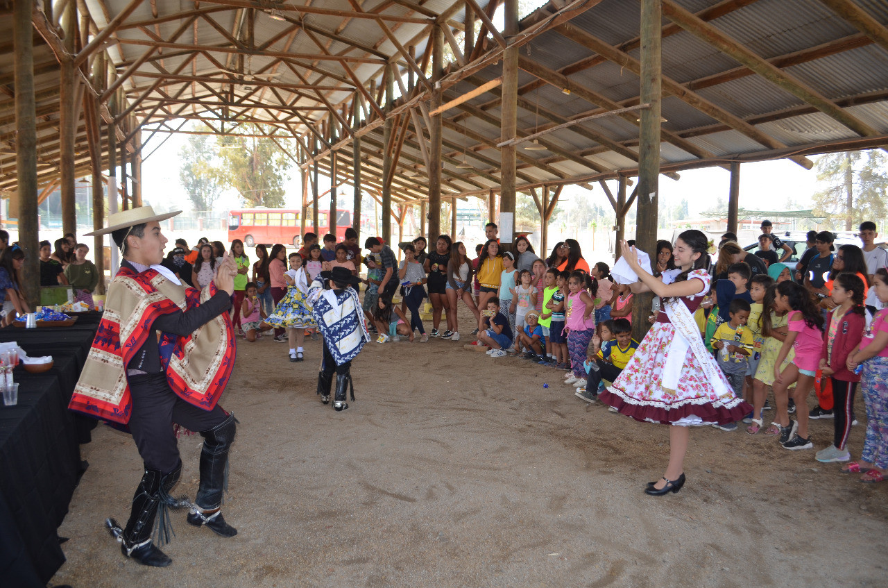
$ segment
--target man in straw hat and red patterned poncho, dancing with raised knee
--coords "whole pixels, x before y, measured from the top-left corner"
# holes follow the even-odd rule
[[[69,404],[132,434],[145,465],[142,480],[127,524],[106,523],[123,555],[160,568],[172,560],[152,543],[151,531],[159,511],[161,541],[169,538],[168,506],[188,506],[187,522],[196,527],[237,533],[219,511],[235,421],[218,406],[234,367],[227,310],[237,270],[226,254],[199,291],[162,266],[167,239],[158,221],[177,214],[142,206],[112,214],[107,228],[91,233],[110,233],[123,261]],[[174,423],[203,437],[194,504],[170,497],[182,472]]]

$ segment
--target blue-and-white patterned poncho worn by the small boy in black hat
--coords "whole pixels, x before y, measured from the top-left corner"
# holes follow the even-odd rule
[[[324,343],[337,365],[351,362],[370,340],[364,325],[361,301],[352,288],[324,290],[325,280],[316,276],[308,287],[305,303],[311,307]]]

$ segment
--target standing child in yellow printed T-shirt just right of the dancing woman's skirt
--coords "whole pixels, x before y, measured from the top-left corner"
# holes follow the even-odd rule
[[[745,287],[745,282],[744,282]],[[728,306],[728,322],[718,325],[716,334],[711,340],[712,348],[717,350],[718,367],[725,372],[733,393],[742,398],[743,381],[749,368],[749,355],[755,345],[752,329],[746,326],[749,321],[749,302],[742,298],[734,298]],[[713,425],[722,431],[734,431],[736,423],[731,425]]]

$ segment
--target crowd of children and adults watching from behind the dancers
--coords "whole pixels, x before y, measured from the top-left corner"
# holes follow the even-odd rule
[[[694,302],[687,306],[712,365],[718,366],[713,373],[724,376],[725,389],[739,402],[727,411],[719,409],[718,418],[703,418],[703,422],[734,431],[742,421],[746,433],[755,435],[764,429],[764,434],[777,437],[783,448],[798,450],[814,447],[809,420],[831,417],[835,423],[832,443],[817,451],[816,458],[850,462],[843,471],[863,474],[862,481],[888,477],[888,310],[883,310],[888,306],[888,270],[884,268],[888,255],[873,252],[884,254],[872,245],[877,235],[870,225],[861,226],[861,236],[867,233],[868,237],[862,250],[843,245],[834,253],[831,237],[812,235],[813,243],[809,244],[814,253],[807,258],[814,269],[807,275],[803,263],[793,273],[790,266],[773,260],[769,263],[765,256],[753,256],[755,263],[750,266],[749,254],[733,242],[731,234],[720,245],[718,263],[711,263],[708,255],[705,260],[695,257],[684,270],[674,263],[671,244],[658,243],[651,274],[658,282],[669,284],[679,274],[706,274],[706,290],[690,297]],[[599,394],[604,393],[614,412],[630,414],[638,409],[626,409],[625,402],[614,400],[615,394],[605,391],[618,379],[625,385],[622,372],[640,348],[646,349],[646,359],[638,359],[636,364],[651,361],[654,352],[648,338],[640,344],[632,338],[634,293],[645,289],[616,282],[604,262],[587,265],[579,243],[559,243],[543,260],[526,238],[516,242],[520,246],[514,251],[503,251],[496,239],[496,226],[491,223],[486,228],[488,241],[476,248],[475,259],[468,257],[463,242],[451,242],[447,235],[440,236],[431,254],[426,253],[422,238],[400,243],[400,263],[391,248],[370,237],[365,243],[367,254],[361,257],[354,252],[357,235],[353,234],[338,245],[325,238],[324,248],[316,243],[316,237],[314,242],[306,239],[301,250],[289,255],[289,271],[281,272],[286,258],[283,246],[276,245],[271,256],[258,247],[259,261],[239,306],[244,337],[255,341],[263,330],[285,330],[290,360],[303,361],[305,334],[317,338],[318,328],[305,304],[309,285],[321,272],[334,268],[357,276],[360,262],[367,272],[361,279],[365,284],[363,318],[377,342],[402,338],[425,342],[436,337],[458,341],[456,308],[462,301],[476,320],[472,335],[477,335],[477,340],[472,346],[487,347],[493,358],[511,354],[565,370],[565,384],[575,388],[575,395],[583,401],[599,401]],[[313,235],[306,238],[309,236]],[[768,242],[773,239],[762,240],[763,247]],[[774,245],[775,249],[778,246]],[[281,267],[269,271],[274,259]],[[591,272],[585,271],[587,267]],[[821,271],[824,267],[828,271]],[[813,279],[817,277],[815,270],[822,280]],[[283,288],[275,283],[274,274],[282,274],[277,283],[283,282]],[[801,283],[797,276],[802,276]],[[262,296],[269,283],[274,306]],[[400,306],[393,301],[398,286],[403,299]],[[425,332],[420,316],[426,298],[434,309],[430,333]],[[662,305],[670,298],[675,297],[654,298],[649,322],[681,320],[667,317]],[[441,332],[443,313],[447,328]],[[665,353],[671,343],[662,338],[656,345]],[[633,374],[638,369],[633,365]],[[662,374],[657,371],[656,376]],[[709,376],[711,380],[712,373]],[[851,462],[847,440],[856,423],[853,401],[858,386],[866,400],[868,425],[862,456]],[[769,387],[773,388],[773,406],[768,401]],[[807,400],[815,388],[819,404],[809,411]],[[747,410],[742,418],[737,413],[739,407]],[[775,414],[773,422],[765,426],[769,410]],[[725,417],[728,412],[733,418]],[[680,484],[667,479],[665,486],[657,482],[654,490],[662,493],[663,488],[678,491]]]

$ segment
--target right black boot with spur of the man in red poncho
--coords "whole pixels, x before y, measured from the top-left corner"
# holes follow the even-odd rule
[[[201,432],[201,484],[186,519],[195,527],[205,525],[224,537],[237,535],[237,529],[226,523],[219,510],[222,493],[228,486],[228,449],[231,449],[235,431],[234,414],[231,414],[209,431]]]

